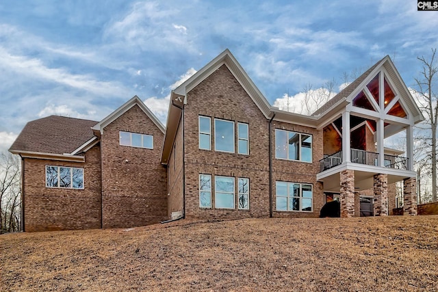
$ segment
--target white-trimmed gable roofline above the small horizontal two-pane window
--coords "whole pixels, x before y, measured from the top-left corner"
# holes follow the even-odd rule
[[[113,111],[111,114],[109,114],[106,118],[98,122],[94,127],[92,127],[92,130],[94,131],[100,131],[101,135],[103,134],[103,129],[107,127],[108,124],[111,124],[114,122],[114,120],[120,118],[123,114],[125,114],[129,109],[131,109],[134,105],[138,105],[142,111],[144,111],[144,114],[148,116],[153,123],[158,127],[162,133],[166,132],[166,128],[160,122],[157,117],[153,114],[153,112],[147,107],[142,100],[138,96],[133,96],[129,101],[124,103],[122,106],[120,106],[118,109]]]

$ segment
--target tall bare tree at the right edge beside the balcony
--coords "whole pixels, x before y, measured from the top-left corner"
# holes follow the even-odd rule
[[[420,109],[425,114],[426,123],[430,129],[430,168],[432,172],[432,200],[437,201],[437,118],[438,118],[438,80],[436,73],[438,66],[435,65],[435,53],[437,49],[432,49],[429,59],[417,57],[422,64],[420,77],[415,78],[416,93],[420,97],[418,103]]]

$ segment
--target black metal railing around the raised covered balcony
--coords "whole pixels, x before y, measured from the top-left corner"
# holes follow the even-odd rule
[[[365,165],[377,166],[378,153],[369,152],[359,149],[350,149],[350,161],[352,163],[359,163]],[[383,156],[385,168],[396,168],[398,170],[407,170],[409,165],[409,158],[387,155]],[[320,172],[329,170],[342,163],[342,150],[332,155],[325,155],[320,160]]]

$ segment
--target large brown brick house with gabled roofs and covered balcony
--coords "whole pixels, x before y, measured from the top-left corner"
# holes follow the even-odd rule
[[[23,157],[25,230],[318,217],[330,200],[342,217],[390,215],[397,182],[404,213],[415,214],[412,131],[421,120],[388,56],[303,116],[272,107],[225,50],[172,91],[166,129],[135,96],[101,122],[29,122],[10,151]],[[384,146],[401,131],[406,157]],[[66,168],[73,187],[48,181]]]

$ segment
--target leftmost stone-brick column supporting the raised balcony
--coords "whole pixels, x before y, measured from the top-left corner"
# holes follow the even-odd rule
[[[343,170],[341,183],[341,217],[355,217],[355,171]]]

